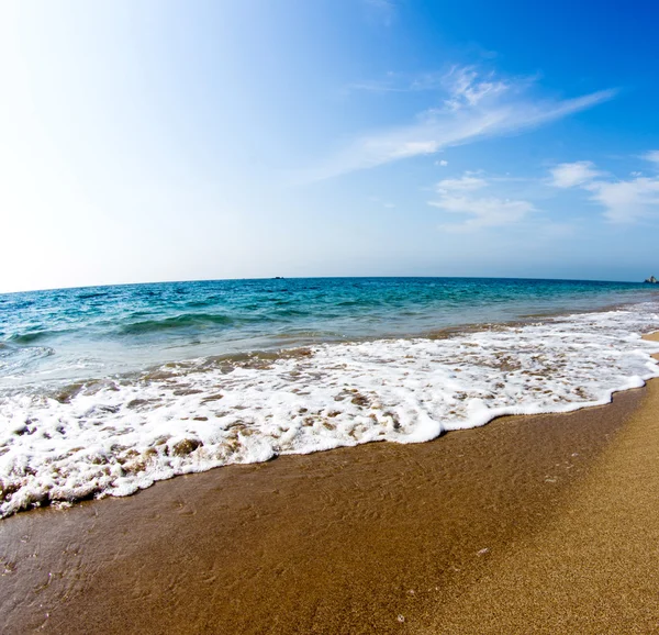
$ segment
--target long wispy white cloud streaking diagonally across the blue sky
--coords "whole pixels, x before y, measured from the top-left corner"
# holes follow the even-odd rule
[[[515,134],[592,108],[616,93],[602,90],[566,100],[537,99],[528,94],[533,80],[499,79],[474,67],[454,67],[442,76],[431,74],[424,82],[421,85],[435,87],[440,107],[417,114],[413,123],[357,137],[308,171],[305,180],[332,178],[487,137]],[[410,90],[414,90],[413,85],[409,82]]]

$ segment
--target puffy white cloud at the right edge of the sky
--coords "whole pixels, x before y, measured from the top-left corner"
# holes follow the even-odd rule
[[[644,158],[659,163],[659,152]],[[579,187],[590,192],[590,199],[604,208],[604,218],[613,223],[633,223],[659,218],[659,177],[632,172],[630,179],[611,179],[596,170],[591,161],[561,164],[551,170],[551,185]]]

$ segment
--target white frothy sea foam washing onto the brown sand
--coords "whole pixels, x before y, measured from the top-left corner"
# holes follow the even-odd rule
[[[657,304],[446,339],[314,346],[166,365],[66,396],[0,399],[0,515],[156,480],[372,441],[421,443],[502,414],[610,401],[659,369]]]

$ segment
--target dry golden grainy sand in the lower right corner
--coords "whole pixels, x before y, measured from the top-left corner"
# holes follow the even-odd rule
[[[539,531],[420,632],[659,633],[659,380]]]

